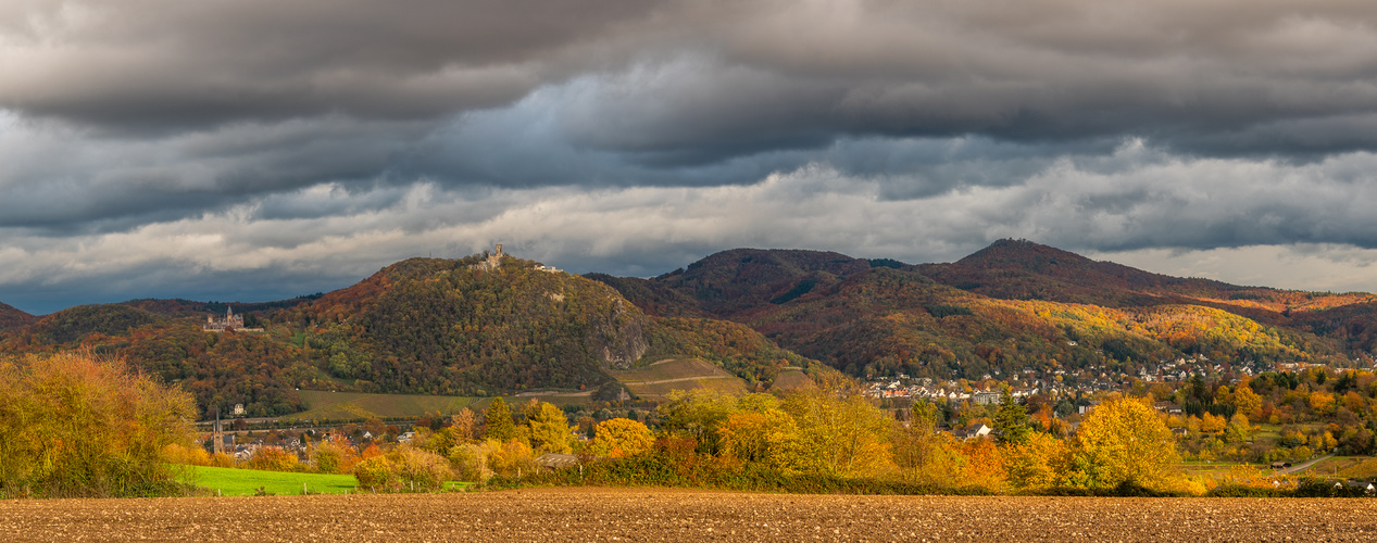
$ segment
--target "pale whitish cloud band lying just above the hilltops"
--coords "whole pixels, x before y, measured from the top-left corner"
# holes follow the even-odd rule
[[[1009,161],[1023,168],[1026,159]],[[884,195],[888,186],[913,179],[856,176],[826,165],[720,187],[330,184],[127,232],[54,239],[0,230],[7,241],[0,261],[8,264],[0,269],[0,300],[22,302],[22,293],[90,289],[92,282],[118,287],[112,291],[124,297],[175,296],[168,289],[194,289],[197,280],[189,278],[218,278],[202,286],[213,293],[202,298],[233,290],[220,280],[263,283],[259,298],[271,298],[284,296],[285,286],[304,286],[289,294],[330,290],[409,256],[471,254],[494,242],[577,272],[655,275],[735,246],[921,263],[958,258],[1002,236],[1261,285],[1276,285],[1276,278],[1257,275],[1268,269],[1265,258],[1286,257],[1303,260],[1315,275],[1307,283],[1293,265],[1281,278],[1285,286],[1351,290],[1370,285],[1362,276],[1370,278],[1377,261],[1377,220],[1363,203],[1377,197],[1377,179],[1352,172],[1374,170],[1377,155],[1370,153],[1296,165],[1179,159],[1126,142],[1108,155],[1052,159],[1019,183],[961,186],[917,199]],[[1270,181],[1260,186],[1259,179]],[[1232,245],[1272,249],[1216,249]],[[1154,252],[1161,246],[1177,247],[1176,256]],[[1226,258],[1209,268],[1180,254]]]

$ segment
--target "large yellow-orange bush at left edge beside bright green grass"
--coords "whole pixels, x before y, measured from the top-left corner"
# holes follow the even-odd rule
[[[180,492],[164,450],[190,444],[191,396],[120,360],[0,360],[0,496]]]

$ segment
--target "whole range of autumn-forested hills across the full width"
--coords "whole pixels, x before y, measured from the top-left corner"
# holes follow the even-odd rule
[[[201,331],[233,307],[264,333]],[[1008,377],[1136,374],[1158,360],[1349,364],[1377,349],[1377,297],[1242,287],[1000,241],[952,264],[737,249],[653,279],[487,254],[410,258],[347,289],[266,304],[135,300],[4,311],[0,353],[91,348],[193,390],[204,410],[302,410],[297,389],[489,396],[589,392],[666,359],[745,388],[799,370]],[[715,385],[720,385],[716,384]],[[733,388],[737,388],[733,385]]]

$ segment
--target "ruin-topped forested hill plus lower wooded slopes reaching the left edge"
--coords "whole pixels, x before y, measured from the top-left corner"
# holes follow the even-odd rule
[[[223,315],[226,304],[76,307],[0,333],[0,355],[124,356],[191,390],[202,410],[242,403],[251,417],[299,411],[297,388],[591,390],[613,381],[609,371],[666,357],[709,360],[761,386],[785,367],[823,368],[748,326],[647,316],[603,283],[509,256],[405,260],[313,298],[233,304],[262,333],[202,331],[207,315]]]

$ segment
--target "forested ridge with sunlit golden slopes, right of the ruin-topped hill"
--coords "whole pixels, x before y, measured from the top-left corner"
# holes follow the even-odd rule
[[[735,320],[855,375],[1344,363],[1377,330],[1367,294],[1170,278],[1022,241],[954,264],[737,249],[653,279],[592,278],[654,315]]]

